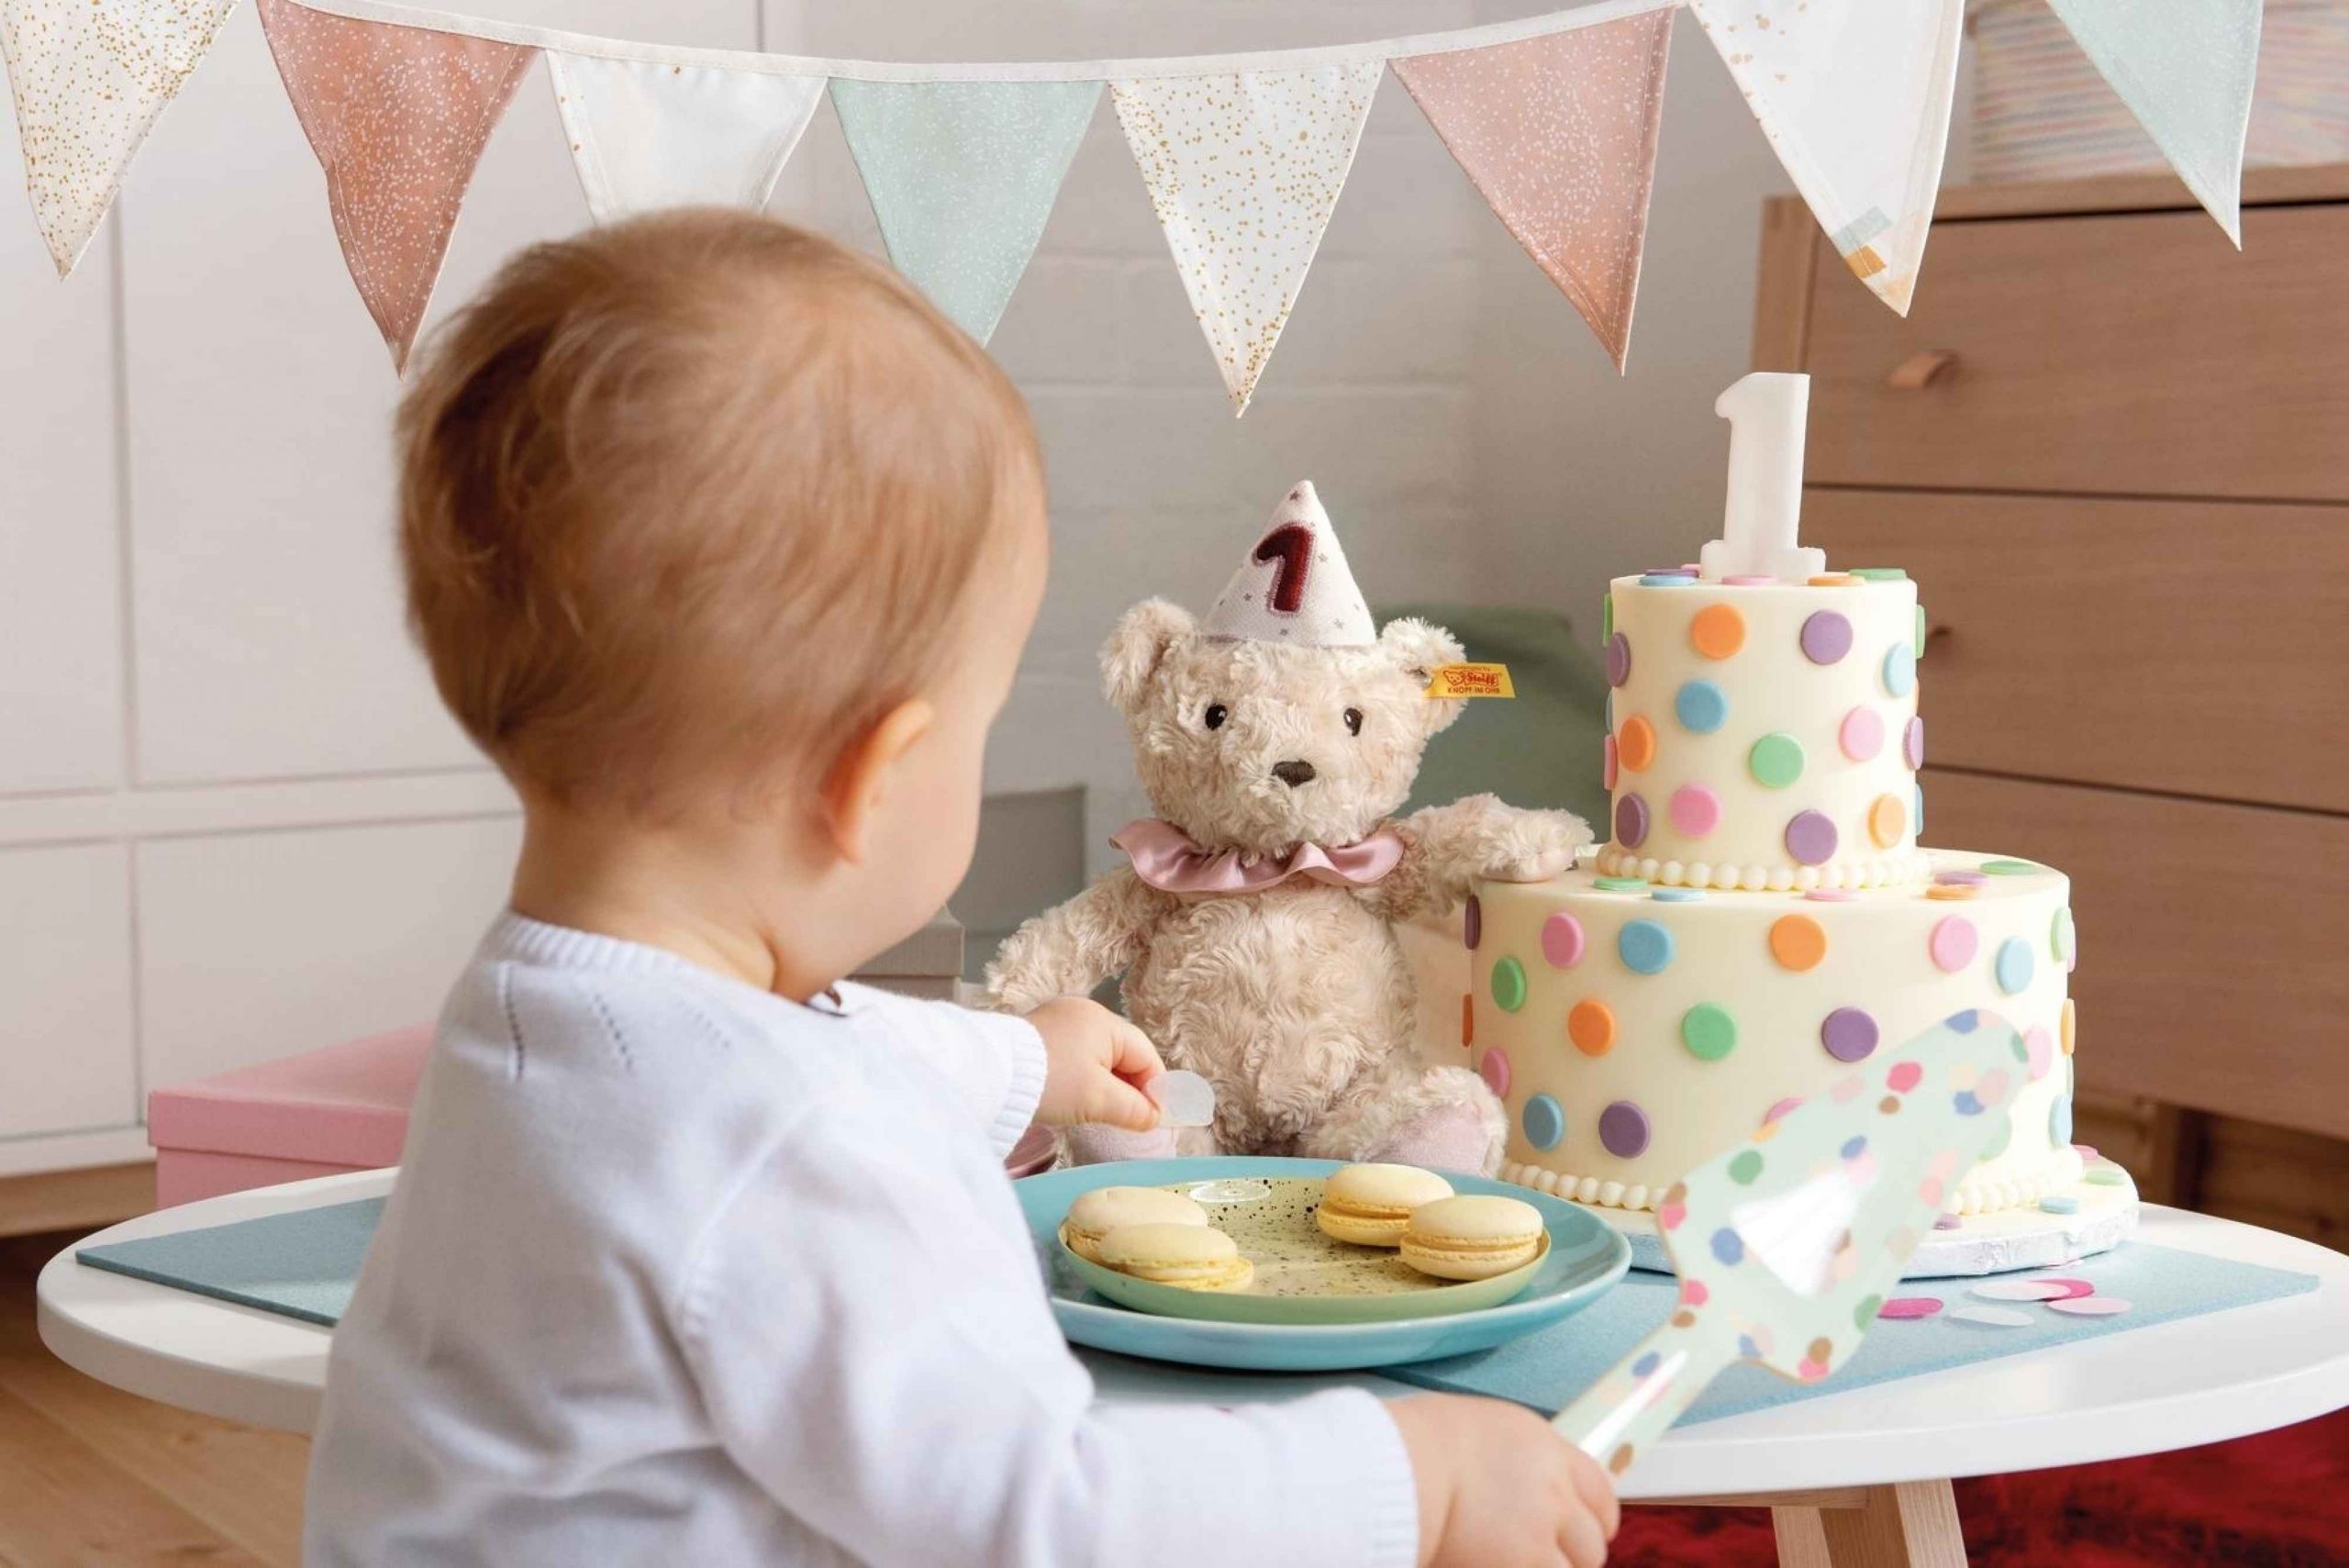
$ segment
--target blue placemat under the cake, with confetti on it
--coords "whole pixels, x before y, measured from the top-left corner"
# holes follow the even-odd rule
[[[1879,1322],[1853,1357],[1825,1383],[1788,1383],[1759,1366],[1731,1366],[1682,1415],[1682,1422],[1743,1415],[1773,1404],[1839,1394],[1867,1383],[1917,1378],[1968,1361],[1992,1361],[2048,1345],[2074,1345],[2107,1333],[2128,1333],[2170,1324],[2182,1317],[2227,1312],[2279,1296],[2316,1289],[2316,1275],[2295,1275],[2257,1263],[2229,1263],[2199,1251],[2121,1242],[2116,1249],[2072,1263],[2069,1268],[1994,1275],[1997,1279],[2086,1279],[2098,1296],[2128,1300],[2128,1312],[2114,1317],[2065,1317],[2027,1300],[1978,1300],[1966,1291],[1985,1279],[1910,1279],[1900,1296],[1936,1296],[1943,1314]],[[1388,1366],[1384,1376],[1454,1394],[1494,1394],[1555,1415],[1600,1373],[1623,1359],[1656,1324],[1670,1317],[1680,1282],[1658,1275],[1630,1275],[1602,1300],[1555,1329],[1510,1340],[1499,1350]],[[2011,1307],[2030,1317],[2025,1329],[1992,1329],[1950,1322],[1959,1307]]]

